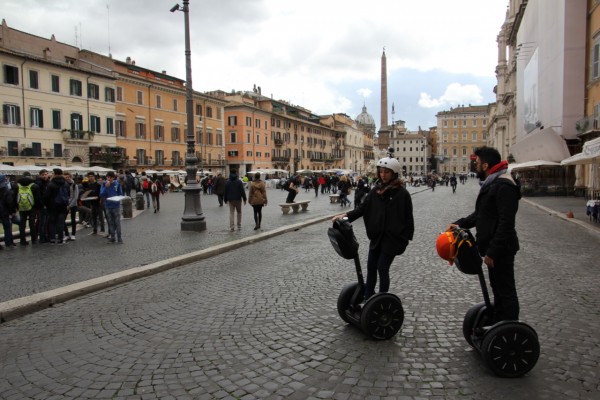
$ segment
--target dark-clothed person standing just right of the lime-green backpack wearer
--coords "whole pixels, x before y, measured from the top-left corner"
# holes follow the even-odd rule
[[[64,244],[65,219],[69,208],[69,185],[62,169],[54,168],[52,172],[52,178],[43,197],[48,211],[48,239],[51,244]]]

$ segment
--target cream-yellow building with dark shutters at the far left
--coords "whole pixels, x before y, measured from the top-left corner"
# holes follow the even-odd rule
[[[13,165],[89,165],[90,147],[123,152],[114,134],[115,77],[78,48],[0,30],[0,156]]]

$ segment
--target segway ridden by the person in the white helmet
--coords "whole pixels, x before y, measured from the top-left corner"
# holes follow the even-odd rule
[[[363,303],[365,281],[358,256],[358,242],[347,218],[338,219],[327,231],[331,245],[341,257],[354,260],[358,282],[344,286],[337,301],[338,314],[346,323],[358,326],[370,338],[387,340],[404,322],[404,309],[398,296],[378,293]]]

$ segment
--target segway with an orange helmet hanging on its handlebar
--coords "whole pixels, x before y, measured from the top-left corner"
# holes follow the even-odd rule
[[[454,250],[444,251],[440,242],[452,243],[449,248]],[[437,249],[450,264],[454,261],[459,271],[479,277],[484,301],[471,307],[465,315],[462,329],[467,343],[479,351],[483,361],[498,376],[517,378],[531,371],[540,355],[537,333],[520,321],[493,323],[494,305],[483,275],[483,261],[471,232],[461,228],[443,232],[438,237]]]

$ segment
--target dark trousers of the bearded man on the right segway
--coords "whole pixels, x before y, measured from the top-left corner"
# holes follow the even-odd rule
[[[503,255],[488,268],[490,286],[494,293],[494,323],[519,319],[519,298],[515,285],[515,256]]]

